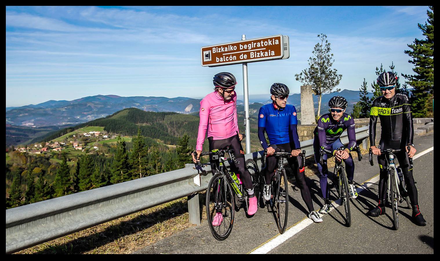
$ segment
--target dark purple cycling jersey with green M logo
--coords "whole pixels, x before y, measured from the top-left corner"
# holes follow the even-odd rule
[[[333,154],[333,144],[339,140],[342,132],[348,133],[348,150],[352,151],[356,146],[355,121],[348,114],[343,114],[339,121],[334,121],[330,113],[324,114],[318,120],[318,126],[315,128],[315,139],[319,139],[319,146],[327,153]]]

